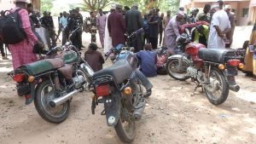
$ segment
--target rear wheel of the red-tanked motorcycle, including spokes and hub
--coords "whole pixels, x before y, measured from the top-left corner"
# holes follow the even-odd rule
[[[204,87],[208,101],[213,105],[224,103],[228,98],[230,90],[223,72],[220,72],[217,68],[212,69],[209,75],[209,81],[210,84]]]

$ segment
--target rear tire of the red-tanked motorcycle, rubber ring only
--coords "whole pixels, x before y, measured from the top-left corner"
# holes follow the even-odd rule
[[[210,72],[210,78],[218,78],[218,83],[220,84],[220,88],[222,89],[222,91],[220,92],[220,96],[216,98],[216,95],[212,95],[212,93],[207,90],[206,87],[204,87],[205,94],[207,95],[208,101],[210,101],[213,105],[220,105],[224,103],[224,101],[226,101],[228,98],[230,91],[229,84],[227,84],[223,72],[221,72],[217,68],[212,69],[212,71]]]

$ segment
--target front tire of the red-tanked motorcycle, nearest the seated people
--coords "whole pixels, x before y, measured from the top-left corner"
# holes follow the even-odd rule
[[[189,64],[188,64],[188,63],[186,63],[186,62],[184,62],[184,63],[185,63],[185,65],[186,65],[186,67],[189,67]],[[184,72],[184,73],[185,73],[184,75],[178,77],[177,74],[179,74],[179,73],[177,73],[177,72],[172,72],[172,70],[171,70],[171,69],[172,69],[172,68],[171,68],[172,64],[174,64],[174,66],[177,66],[177,65],[178,65],[178,59],[167,60],[167,63],[166,63],[166,71],[167,71],[167,73],[168,73],[172,78],[174,78],[174,79],[176,79],[176,80],[180,80],[180,81],[185,81],[185,80],[187,80],[187,79],[190,78],[190,77],[187,75],[187,72]]]

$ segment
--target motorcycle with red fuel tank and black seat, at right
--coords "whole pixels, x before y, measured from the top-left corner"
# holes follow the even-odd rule
[[[236,51],[230,49],[206,49],[201,43],[191,43],[189,31],[177,38],[177,47],[183,52],[172,55],[166,63],[168,74],[177,80],[191,78],[197,83],[194,92],[201,87],[213,105],[226,101],[229,90],[239,91],[235,76],[237,67],[243,64]]]

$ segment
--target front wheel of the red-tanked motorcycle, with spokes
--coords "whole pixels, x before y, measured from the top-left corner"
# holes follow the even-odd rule
[[[185,81],[190,78],[189,75],[187,74],[187,68],[189,67],[189,64],[185,61],[182,61],[183,71],[180,72],[179,70],[177,70],[177,66],[179,63],[178,61],[178,59],[168,60],[166,63],[166,70],[172,78],[180,81]]]

